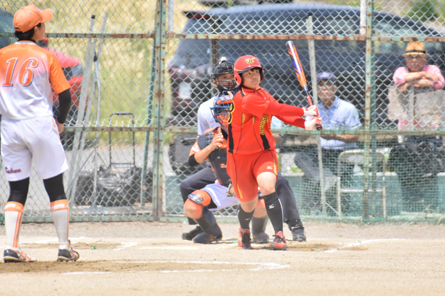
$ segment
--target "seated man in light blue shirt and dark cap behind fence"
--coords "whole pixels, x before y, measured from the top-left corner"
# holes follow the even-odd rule
[[[355,106],[341,100],[335,94],[337,78],[330,72],[321,72],[316,76],[318,112],[323,117],[323,128],[326,130],[353,130],[359,128],[359,113]],[[311,118],[307,118],[310,120]],[[321,138],[323,155],[323,175],[325,179],[325,191],[330,207],[337,209],[335,190],[333,184],[337,180],[337,161],[340,153],[357,147],[357,136],[351,134],[330,134]],[[305,186],[303,190],[303,208],[309,211],[318,211],[321,208],[320,198],[320,174],[318,171],[317,150],[306,150],[296,153],[295,162],[305,173]],[[353,166],[342,166],[342,177],[350,175]],[[347,181],[347,180],[346,180]],[[348,199],[344,198],[343,209],[348,208]],[[343,202],[342,202],[343,203]]]

